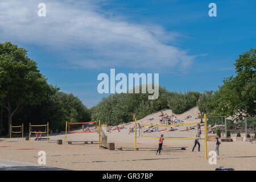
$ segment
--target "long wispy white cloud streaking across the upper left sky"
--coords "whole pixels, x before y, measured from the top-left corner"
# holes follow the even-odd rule
[[[171,42],[179,36],[155,24],[137,24],[101,9],[101,1],[1,0],[0,40],[56,50],[59,59],[80,68],[188,68],[195,56]],[[60,3],[61,2],[61,3]],[[167,71],[168,72],[168,71]]]

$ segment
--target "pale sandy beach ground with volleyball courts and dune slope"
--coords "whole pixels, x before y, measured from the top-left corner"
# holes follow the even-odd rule
[[[171,115],[172,111],[163,110],[163,113]],[[197,113],[199,113],[197,107],[193,107],[185,113],[175,116],[185,123],[191,123],[200,120],[195,119]],[[160,111],[155,112],[137,122],[159,124],[159,114]],[[192,118],[184,120],[187,115],[191,115]],[[153,121],[145,122],[151,117],[154,118]],[[194,139],[164,140],[161,155],[156,155],[155,152],[158,148],[156,139],[137,138],[139,150],[133,151],[134,133],[128,133],[129,127],[133,126],[134,122],[126,125],[125,131],[112,131],[108,134],[108,142],[115,143],[116,150],[114,151],[99,149],[97,133],[68,134],[68,141],[96,141],[94,144],[65,145],[64,134],[49,135],[49,143],[45,140],[34,140],[34,137],[30,141],[21,138],[0,138],[0,159],[38,164],[38,152],[45,151],[46,166],[72,170],[215,170],[221,166],[235,170],[255,170],[255,142],[253,144],[241,141],[222,142],[220,156],[217,158],[217,164],[214,165],[209,164],[208,159],[205,159],[204,132],[201,134],[200,152],[197,151],[197,146],[192,152]],[[57,139],[62,139],[63,144],[57,144]],[[208,141],[207,143],[208,153],[214,151],[214,142]],[[130,147],[130,151],[117,150],[118,147]],[[167,147],[187,148],[186,150],[169,150]]]

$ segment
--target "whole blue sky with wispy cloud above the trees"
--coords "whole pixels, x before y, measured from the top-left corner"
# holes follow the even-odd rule
[[[46,17],[38,4],[46,4]],[[210,17],[209,3],[217,5]],[[256,1],[0,2],[0,42],[28,50],[49,84],[91,107],[97,76],[159,73],[170,91],[216,90],[256,43]]]

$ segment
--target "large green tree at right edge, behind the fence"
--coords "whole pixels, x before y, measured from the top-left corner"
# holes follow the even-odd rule
[[[214,98],[217,103],[216,113],[251,117],[256,113],[256,49],[239,56],[234,64],[236,77],[224,79],[224,85],[219,86]]]

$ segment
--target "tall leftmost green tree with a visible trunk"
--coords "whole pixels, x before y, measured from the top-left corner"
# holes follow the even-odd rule
[[[9,126],[19,106],[40,104],[47,89],[46,78],[24,48],[0,43],[0,104],[8,111]]]

